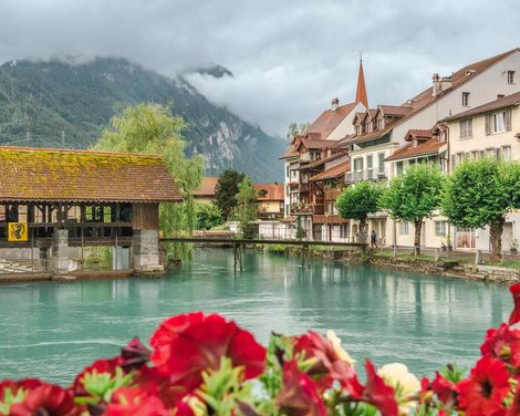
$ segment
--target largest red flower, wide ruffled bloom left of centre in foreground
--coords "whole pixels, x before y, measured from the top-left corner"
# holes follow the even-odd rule
[[[217,314],[169,318],[152,335],[150,344],[157,370],[187,392],[200,385],[202,371],[218,370],[222,356],[231,358],[233,366],[243,366],[246,378],[258,376],[266,366],[266,349],[252,334]]]

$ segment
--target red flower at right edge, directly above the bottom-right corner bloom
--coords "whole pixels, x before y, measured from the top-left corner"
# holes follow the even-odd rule
[[[520,330],[511,330],[506,323],[502,323],[498,330],[488,330],[480,352],[482,356],[498,358],[513,367],[520,367]]]

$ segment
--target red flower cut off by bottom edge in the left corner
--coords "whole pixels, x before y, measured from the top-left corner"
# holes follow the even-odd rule
[[[75,406],[69,391],[52,384],[42,384],[31,391],[25,399],[11,406],[11,416],[75,416],[80,408]]]

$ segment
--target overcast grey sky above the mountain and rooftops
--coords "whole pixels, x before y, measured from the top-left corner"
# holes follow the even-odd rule
[[[519,0],[0,0],[0,61],[128,58],[190,76],[211,101],[271,134],[354,98],[363,53],[371,106],[401,104],[431,74],[520,45]]]

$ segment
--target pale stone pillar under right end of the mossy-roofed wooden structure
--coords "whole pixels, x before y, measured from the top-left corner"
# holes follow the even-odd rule
[[[159,263],[159,231],[133,230],[134,270],[136,272],[162,272]]]

